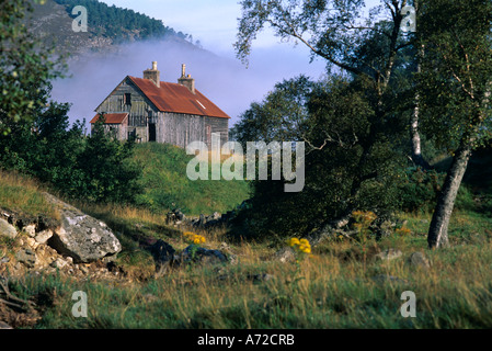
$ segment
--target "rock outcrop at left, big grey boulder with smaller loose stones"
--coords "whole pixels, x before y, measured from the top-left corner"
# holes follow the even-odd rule
[[[57,197],[45,196],[55,205],[58,218],[0,211],[0,237],[11,240],[9,248],[0,250],[0,273],[62,270],[70,275],[114,275],[103,263],[122,250],[112,230]]]

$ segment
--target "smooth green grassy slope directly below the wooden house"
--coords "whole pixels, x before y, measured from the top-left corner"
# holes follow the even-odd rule
[[[186,215],[198,215],[225,213],[248,199],[245,181],[187,179],[186,165],[192,158],[171,145],[137,145],[135,160],[144,167],[146,189],[139,202],[157,212],[181,208]]]

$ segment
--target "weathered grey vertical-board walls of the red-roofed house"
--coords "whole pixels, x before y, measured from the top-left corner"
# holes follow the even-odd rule
[[[229,139],[228,118],[160,112],[128,78],[104,100],[96,112],[128,112],[128,126],[117,131],[121,140],[135,134],[137,141],[149,141],[149,124],[155,125],[157,143],[169,143],[183,148],[197,140],[205,141],[210,147],[211,140],[207,129],[220,133],[221,144]]]

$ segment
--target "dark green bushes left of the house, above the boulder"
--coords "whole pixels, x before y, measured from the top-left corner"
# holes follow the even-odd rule
[[[0,136],[0,166],[34,176],[66,197],[89,202],[133,202],[141,191],[140,169],[130,161],[133,143],[121,143],[96,125],[90,137],[83,123],[70,128],[68,104],[52,103],[34,122],[12,124]]]

